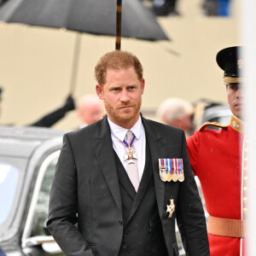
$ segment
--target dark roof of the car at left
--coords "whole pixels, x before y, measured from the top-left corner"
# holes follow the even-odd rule
[[[66,132],[32,126],[0,126],[0,156],[29,158],[39,145],[53,140],[61,142]]]

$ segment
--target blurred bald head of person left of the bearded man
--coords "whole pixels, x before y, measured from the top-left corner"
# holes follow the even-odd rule
[[[80,128],[90,125],[103,117],[103,104],[95,94],[82,96],[78,102],[78,117]]]

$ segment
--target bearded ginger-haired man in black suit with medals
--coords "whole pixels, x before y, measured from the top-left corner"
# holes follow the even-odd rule
[[[69,256],[175,256],[177,219],[188,255],[209,255],[184,132],[140,114],[140,61],[112,51],[95,75],[107,115],[64,136],[47,223],[55,241]]]

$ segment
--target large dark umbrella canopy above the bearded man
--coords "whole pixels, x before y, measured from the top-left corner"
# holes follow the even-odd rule
[[[9,0],[0,9],[0,20],[114,36],[116,0]],[[169,40],[139,0],[123,0],[121,31],[125,38]]]

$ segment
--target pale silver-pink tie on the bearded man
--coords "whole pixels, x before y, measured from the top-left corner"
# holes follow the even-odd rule
[[[126,138],[127,143],[131,143],[133,137],[132,131],[127,131]],[[128,154],[129,154],[129,148]],[[136,192],[139,186],[139,177],[138,177],[138,168],[137,168],[137,158],[134,158],[133,156],[136,154],[135,147],[133,144],[130,146],[130,150],[132,150],[130,153],[132,154],[132,160],[128,159],[128,165],[127,165],[127,174],[130,177],[131,183],[133,184],[133,187],[135,188]]]

